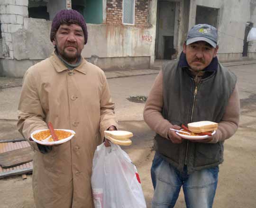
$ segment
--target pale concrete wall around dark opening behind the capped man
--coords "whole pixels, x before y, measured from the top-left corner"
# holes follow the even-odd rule
[[[193,0],[190,4],[189,29],[195,24],[197,5],[219,9],[219,60],[243,60],[245,26],[251,20],[250,2],[251,0]],[[248,58],[256,58],[256,54],[250,54]]]

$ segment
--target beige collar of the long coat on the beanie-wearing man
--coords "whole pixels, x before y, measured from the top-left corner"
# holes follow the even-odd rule
[[[50,61],[52,62],[55,70],[57,72],[62,72],[62,71],[65,71],[65,70],[69,70],[65,65],[64,63],[58,58],[58,56],[55,54],[55,52],[53,52],[50,56]],[[84,67],[85,64],[87,64],[87,61],[85,61],[85,59],[82,58],[81,60],[81,64],[74,68],[73,70],[76,70],[76,71],[79,71],[83,74],[86,74],[87,73],[87,68]]]

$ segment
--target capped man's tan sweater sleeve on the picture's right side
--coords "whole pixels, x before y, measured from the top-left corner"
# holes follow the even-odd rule
[[[222,120],[219,122],[216,134],[210,143],[217,143],[229,139],[238,129],[240,117],[240,100],[238,94],[238,86],[236,85],[233,93],[229,98],[229,103]]]

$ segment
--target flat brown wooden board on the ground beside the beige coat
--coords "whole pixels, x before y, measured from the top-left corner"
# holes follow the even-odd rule
[[[31,147],[24,147],[20,149],[11,150],[0,153],[0,165],[3,168],[9,168],[21,165],[33,160],[34,152]]]

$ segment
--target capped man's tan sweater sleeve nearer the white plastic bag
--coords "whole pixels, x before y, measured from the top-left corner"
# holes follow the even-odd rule
[[[168,138],[168,130],[173,125],[163,115],[163,72],[160,71],[151,87],[144,108],[144,120],[147,125],[164,138]]]

